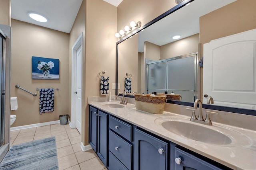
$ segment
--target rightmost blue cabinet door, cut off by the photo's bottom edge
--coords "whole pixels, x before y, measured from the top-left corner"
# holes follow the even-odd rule
[[[175,162],[175,170],[222,170],[178,148],[175,148]]]

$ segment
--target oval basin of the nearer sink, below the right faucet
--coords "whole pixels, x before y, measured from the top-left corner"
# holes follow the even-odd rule
[[[192,123],[165,121],[162,123],[162,127],[177,135],[204,143],[228,145],[232,142],[229,137],[221,132]]]

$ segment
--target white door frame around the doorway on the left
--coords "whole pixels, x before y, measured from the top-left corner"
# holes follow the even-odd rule
[[[83,33],[81,33],[74,43],[72,47],[72,72],[71,72],[71,128],[76,128],[76,94],[74,92],[76,91],[76,51],[78,48],[82,46],[82,62],[83,63]],[[83,70],[83,64],[81,66],[81,70]],[[83,78],[83,73],[82,73]],[[83,81],[82,81],[83,82]],[[81,94],[83,96],[83,87],[81,86]],[[83,98],[81,98],[81,102],[83,101]],[[82,105],[81,105],[82,106]],[[81,107],[82,111],[82,107]],[[82,126],[82,117],[81,117],[81,126]],[[82,133],[82,127],[81,127],[81,133]]]

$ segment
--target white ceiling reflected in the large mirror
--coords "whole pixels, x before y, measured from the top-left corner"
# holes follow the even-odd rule
[[[144,51],[144,41],[162,46],[173,41],[174,35],[181,38],[199,33],[199,17],[236,0],[194,0],[139,33],[138,51]],[[144,25],[145,23],[142,23]],[[157,31],[156,31],[157,30]]]

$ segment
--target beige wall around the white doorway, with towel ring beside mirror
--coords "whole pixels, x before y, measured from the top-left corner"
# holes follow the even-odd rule
[[[81,32],[84,33],[83,53],[83,94],[82,94],[82,143],[89,143],[89,96],[100,95],[99,72],[106,70],[110,87],[115,82],[117,8],[102,0],[83,0],[76,21],[70,32],[70,48]],[[71,52],[69,61],[72,60]],[[71,63],[70,63],[71,72]],[[71,73],[69,92],[71,93]],[[115,91],[111,90],[114,95]],[[69,97],[71,110],[71,96]]]

